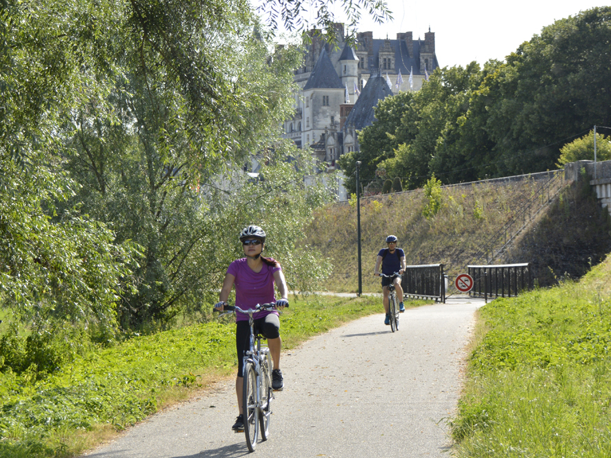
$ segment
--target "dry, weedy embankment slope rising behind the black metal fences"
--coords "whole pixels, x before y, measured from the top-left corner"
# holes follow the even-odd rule
[[[399,238],[410,264],[444,264],[449,275],[477,261],[488,238],[510,220],[541,187],[532,177],[490,180],[441,187],[436,196],[424,189],[361,199],[363,291],[379,291],[373,269],[388,234]],[[429,215],[431,202],[439,209]],[[356,200],[319,209],[307,229],[306,244],[333,264],[330,291],[357,291]],[[532,262],[539,284],[554,284],[565,272],[578,278],[611,251],[611,225],[590,187],[565,183],[565,188],[533,220],[503,261]],[[495,260],[499,263],[501,260]]]

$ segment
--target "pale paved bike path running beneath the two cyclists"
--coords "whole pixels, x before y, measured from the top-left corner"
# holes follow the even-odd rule
[[[448,457],[445,419],[461,390],[465,344],[483,300],[409,309],[399,331],[372,315],[284,352],[285,389],[272,404],[271,437],[255,453],[273,457]],[[248,455],[230,430],[234,382],[168,409],[90,452],[96,458]]]

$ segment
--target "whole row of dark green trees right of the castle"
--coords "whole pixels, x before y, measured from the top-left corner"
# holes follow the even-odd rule
[[[432,174],[459,183],[551,169],[565,143],[609,125],[609,55],[611,8],[602,7],[545,27],[505,63],[437,69],[400,114],[394,97],[380,103],[361,152],[341,165],[350,173],[362,160],[363,176],[383,168],[410,189]]]

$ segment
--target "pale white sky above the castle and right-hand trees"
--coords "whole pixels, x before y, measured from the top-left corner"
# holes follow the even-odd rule
[[[394,19],[379,25],[363,13],[359,32],[372,31],[374,39],[397,38],[397,32],[413,32],[414,39],[435,32],[435,51],[441,67],[480,64],[505,59],[521,43],[540,34],[545,25],[611,1],[594,0],[386,0]],[[341,2],[335,6],[341,15]],[[314,17],[306,18],[313,20]]]

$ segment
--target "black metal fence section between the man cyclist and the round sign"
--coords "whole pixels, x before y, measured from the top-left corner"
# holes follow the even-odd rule
[[[403,296],[434,299],[445,304],[445,274],[443,264],[408,266],[401,280]]]

